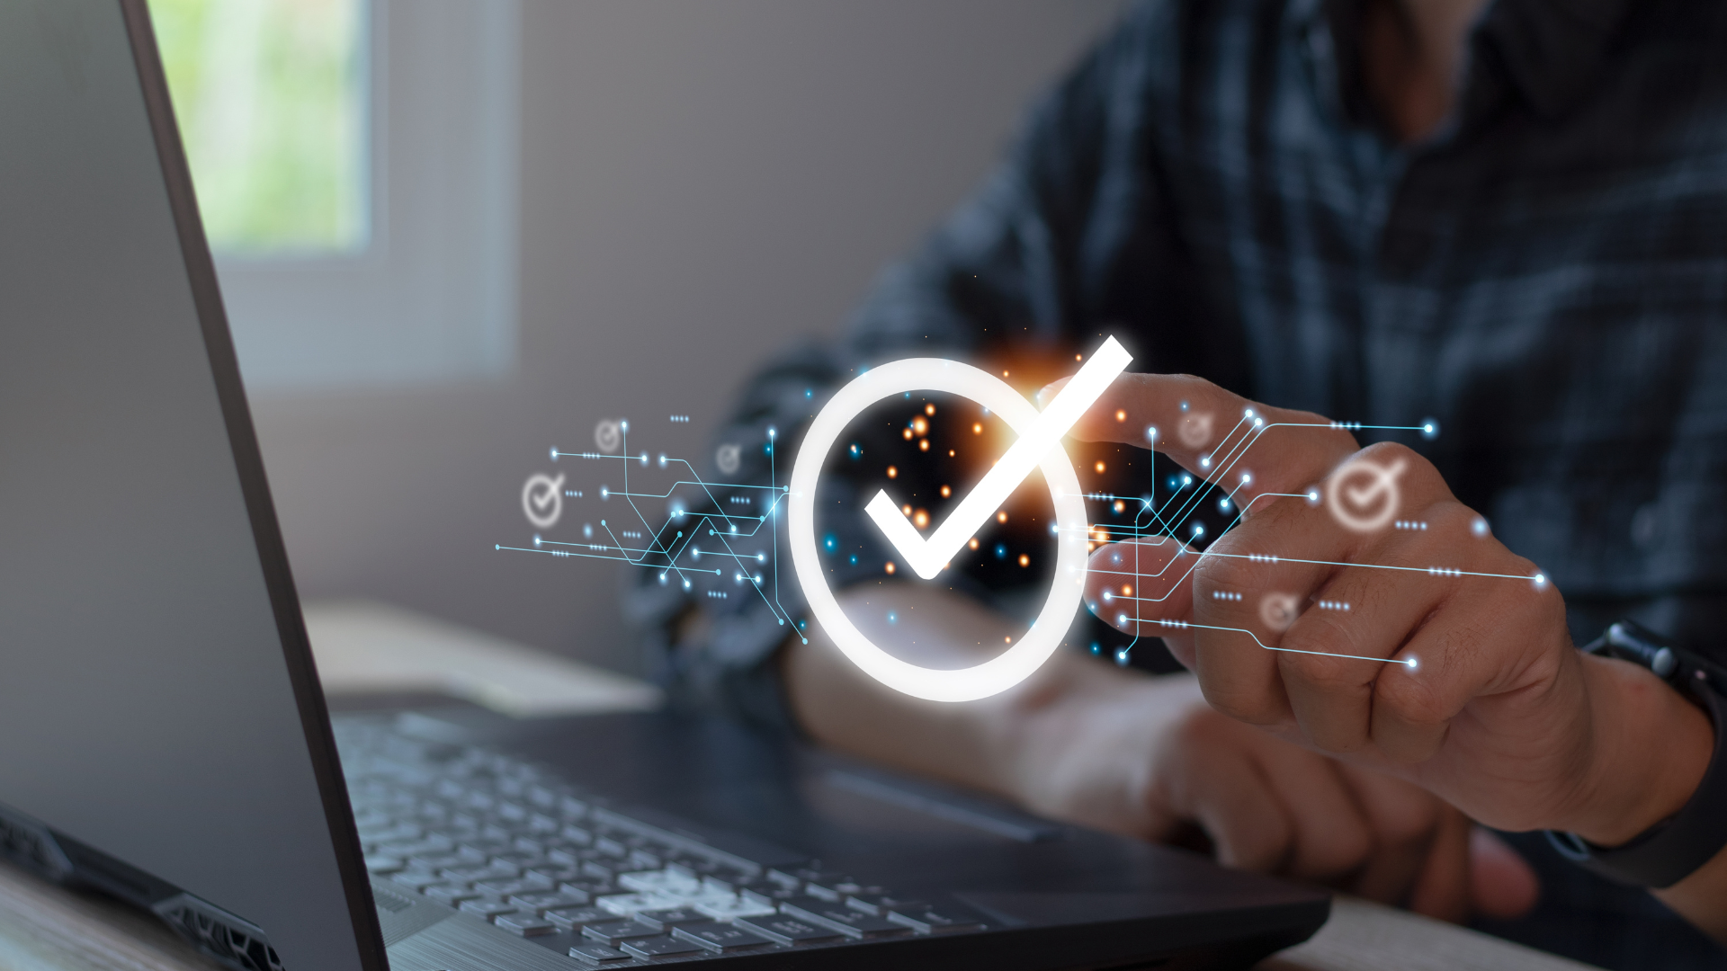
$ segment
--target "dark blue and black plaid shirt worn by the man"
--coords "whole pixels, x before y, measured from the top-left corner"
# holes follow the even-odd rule
[[[1547,570],[1577,638],[1634,615],[1727,658],[1727,3],[1499,0],[1452,121],[1416,145],[1363,97],[1357,14],[1136,9],[839,342],[755,380],[727,435],[794,442],[865,363],[1071,368],[1107,330],[1135,370],[1437,418],[1411,444]],[[665,670],[686,698],[782,712],[762,662],[784,627],[729,605],[691,643],[658,638]],[[665,631],[686,603],[649,587],[637,608]],[[1537,864],[1542,911],[1496,930],[1616,968],[1724,966],[1648,897]]]

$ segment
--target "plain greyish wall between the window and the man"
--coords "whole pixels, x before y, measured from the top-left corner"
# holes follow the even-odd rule
[[[254,401],[302,596],[378,596],[632,667],[629,567],[492,551],[530,532],[523,479],[549,446],[589,447],[603,416],[656,449],[706,442],[751,366],[832,333],[1119,9],[527,2],[520,365]],[[667,428],[674,411],[694,422]]]

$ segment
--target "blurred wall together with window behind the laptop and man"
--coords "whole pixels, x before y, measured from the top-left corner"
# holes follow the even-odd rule
[[[1124,2],[150,5],[302,596],[634,670],[632,567],[494,553],[525,477],[705,449]]]

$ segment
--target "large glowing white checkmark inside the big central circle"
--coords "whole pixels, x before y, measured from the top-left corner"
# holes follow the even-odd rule
[[[953,560],[953,555],[969,541],[995,511],[1014,494],[1014,489],[1031,475],[1053,447],[1060,447],[1062,435],[1074,427],[1104,390],[1109,389],[1116,375],[1128,368],[1133,356],[1114,337],[1091,354],[1079,368],[1079,373],[1067,382],[1067,387],[1055,396],[1036,423],[1026,430],[1019,441],[1002,454],[984,473],[977,486],[960,499],[960,505],[948,513],[948,518],[936,527],[936,532],[924,539],[912,525],[900,506],[895,505],[888,491],[876,492],[876,498],[864,506],[864,511],[876,522],[888,543],[905,560],[912,572],[929,581]]]

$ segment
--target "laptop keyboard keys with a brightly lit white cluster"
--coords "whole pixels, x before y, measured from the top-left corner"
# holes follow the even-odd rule
[[[366,869],[596,968],[986,930],[819,860],[767,867],[473,745],[338,722]]]

